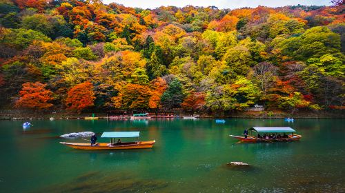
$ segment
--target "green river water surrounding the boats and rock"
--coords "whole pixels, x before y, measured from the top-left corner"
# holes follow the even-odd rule
[[[31,120],[27,130],[23,122],[0,121],[0,192],[345,191],[344,119]],[[290,126],[303,137],[237,143],[229,136],[252,126]],[[155,146],[92,152],[59,143],[82,142],[59,137],[70,132],[136,130]]]

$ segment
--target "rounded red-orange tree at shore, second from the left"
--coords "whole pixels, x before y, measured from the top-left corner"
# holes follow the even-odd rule
[[[68,91],[66,106],[68,110],[77,110],[80,113],[81,110],[92,107],[95,99],[92,83],[79,83]]]

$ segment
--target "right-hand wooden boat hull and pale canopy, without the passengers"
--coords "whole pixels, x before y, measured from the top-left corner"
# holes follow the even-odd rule
[[[240,141],[244,141],[244,142],[279,142],[279,141],[298,141],[299,139],[302,138],[302,135],[299,134],[293,134],[293,132],[296,132],[293,128],[290,127],[253,127],[249,129],[250,134],[248,134],[247,137],[245,136],[235,136],[235,135],[231,135],[232,137],[234,137],[235,139],[239,139]],[[252,135],[252,132],[257,132],[256,136]],[[267,133],[267,134],[275,134],[275,136],[277,136],[277,134],[279,133],[291,133],[286,135],[286,137],[282,137],[282,138],[271,138],[271,139],[262,139],[257,137],[259,133]]]

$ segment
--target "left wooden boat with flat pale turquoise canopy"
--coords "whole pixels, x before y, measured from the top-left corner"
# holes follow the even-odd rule
[[[137,138],[139,139],[140,132],[103,132],[101,138],[110,139],[110,143],[68,143],[60,142],[70,148],[79,150],[128,150],[128,149],[143,149],[152,148],[155,140],[152,141],[132,141],[132,142],[115,142],[115,139],[121,138]]]

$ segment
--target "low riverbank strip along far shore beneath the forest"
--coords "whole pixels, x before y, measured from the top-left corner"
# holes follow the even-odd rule
[[[198,114],[198,113],[197,113]],[[281,112],[281,111],[244,111],[244,112],[233,112],[228,114],[207,114],[207,113],[199,113],[200,118],[244,118],[244,119],[281,119],[281,118],[311,118],[311,119],[323,119],[323,118],[336,118],[336,119],[344,119],[345,113],[342,111],[339,112],[326,112],[326,111],[318,111],[318,112],[297,112],[295,114],[291,114],[288,112]],[[95,113],[97,119],[130,119],[129,115],[126,116],[119,116],[111,117],[109,114],[105,112],[98,112]],[[182,116],[190,116],[190,114],[180,112],[175,117],[170,118],[159,118],[156,117],[154,119],[172,119],[172,118],[180,118]],[[92,117],[92,113],[67,113],[67,112],[0,112],[0,120],[28,120],[28,119],[85,119],[86,117]]]

